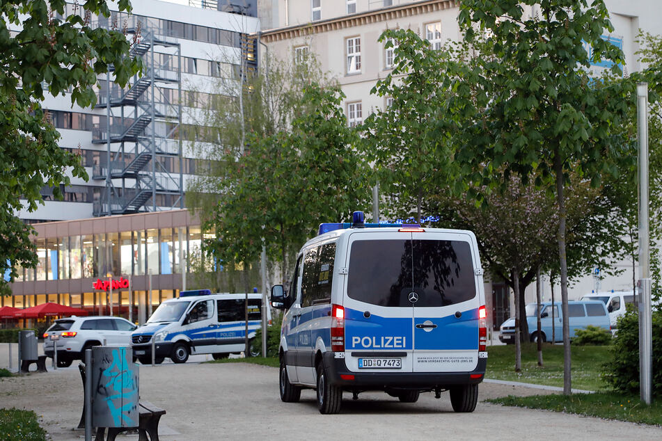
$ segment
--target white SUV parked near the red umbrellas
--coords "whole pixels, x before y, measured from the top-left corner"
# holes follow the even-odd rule
[[[85,350],[103,344],[130,346],[136,325],[121,317],[94,316],[56,320],[44,333],[44,353],[53,358],[57,344],[58,367],[68,367],[73,360],[83,360]],[[52,336],[58,339],[52,340]]]

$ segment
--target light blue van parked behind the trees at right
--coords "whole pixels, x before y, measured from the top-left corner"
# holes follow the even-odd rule
[[[552,339],[552,326],[554,328],[555,342],[563,341],[563,317],[560,303],[554,303],[552,309],[551,302],[541,303],[540,311],[540,335],[538,335],[538,325],[536,318],[536,303],[526,305],[526,322],[528,323],[529,339],[536,342],[541,338],[543,342],[549,342]],[[553,314],[552,314],[553,312]],[[553,315],[553,321],[552,321]],[[574,337],[575,331],[586,328],[589,325],[598,326],[610,330],[610,319],[607,308],[599,300],[573,300],[568,302],[568,321],[570,324],[570,337]],[[515,342],[515,319],[510,318],[501,325],[501,335],[499,339],[503,343],[512,344]]]

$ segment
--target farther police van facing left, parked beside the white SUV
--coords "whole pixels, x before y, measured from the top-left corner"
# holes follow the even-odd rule
[[[184,363],[191,354],[212,354],[214,360],[244,351],[246,345],[246,294],[212,294],[209,289],[182,291],[165,300],[147,323],[132,332],[134,357],[141,363],[171,358]],[[249,339],[262,325],[262,294],[248,294]],[[267,322],[271,312],[267,307]],[[251,342],[251,355],[253,353]]]

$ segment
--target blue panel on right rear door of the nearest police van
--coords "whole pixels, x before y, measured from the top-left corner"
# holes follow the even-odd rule
[[[415,351],[478,351],[478,308],[462,312],[462,317],[416,317],[415,323],[432,321],[437,327],[429,332],[416,329]]]

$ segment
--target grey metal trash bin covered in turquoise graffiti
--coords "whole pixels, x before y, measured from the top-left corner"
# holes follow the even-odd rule
[[[92,348],[92,425],[135,427],[139,424],[138,364],[129,346]]]

